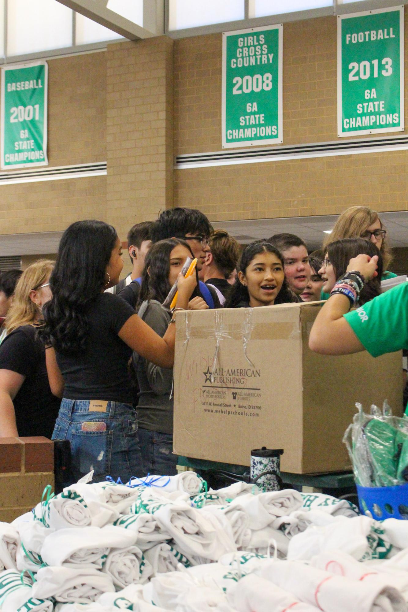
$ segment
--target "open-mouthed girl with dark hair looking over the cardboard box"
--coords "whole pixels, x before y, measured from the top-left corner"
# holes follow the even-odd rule
[[[239,272],[225,308],[254,308],[295,302],[283,271],[283,257],[264,240],[248,244],[241,255]]]

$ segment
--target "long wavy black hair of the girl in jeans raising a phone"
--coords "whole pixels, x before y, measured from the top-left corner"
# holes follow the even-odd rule
[[[116,241],[116,230],[103,221],[77,221],[62,234],[50,278],[53,297],[43,306],[44,324],[39,329],[45,343],[59,353],[86,349],[89,308],[105,285]]]

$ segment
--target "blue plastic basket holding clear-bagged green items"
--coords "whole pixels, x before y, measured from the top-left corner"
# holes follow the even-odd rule
[[[360,487],[357,485],[358,504],[363,514],[367,511],[376,520],[399,518],[408,520],[408,483],[396,487]]]

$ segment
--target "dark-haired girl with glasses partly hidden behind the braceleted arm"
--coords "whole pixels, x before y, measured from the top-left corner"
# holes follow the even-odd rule
[[[350,259],[357,257],[360,253],[366,253],[370,257],[378,256],[378,275],[375,278],[371,278],[362,288],[358,297],[358,305],[361,306],[372,300],[373,297],[379,296],[381,293],[382,255],[373,242],[368,242],[363,238],[346,238],[330,242],[327,245],[325,258],[319,270],[319,274],[324,282],[322,289],[325,293],[330,294],[336,280],[346,273]]]

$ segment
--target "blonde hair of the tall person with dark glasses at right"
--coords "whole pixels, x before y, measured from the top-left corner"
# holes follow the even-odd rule
[[[370,225],[380,222],[382,230],[384,225],[376,211],[368,206],[351,206],[346,211],[339,215],[332,233],[328,234],[323,243],[323,248],[326,249],[328,244],[344,238],[360,238],[367,231]],[[380,252],[384,263],[384,271],[387,270],[388,264],[392,259],[390,250],[387,247],[385,239],[381,243]]]

